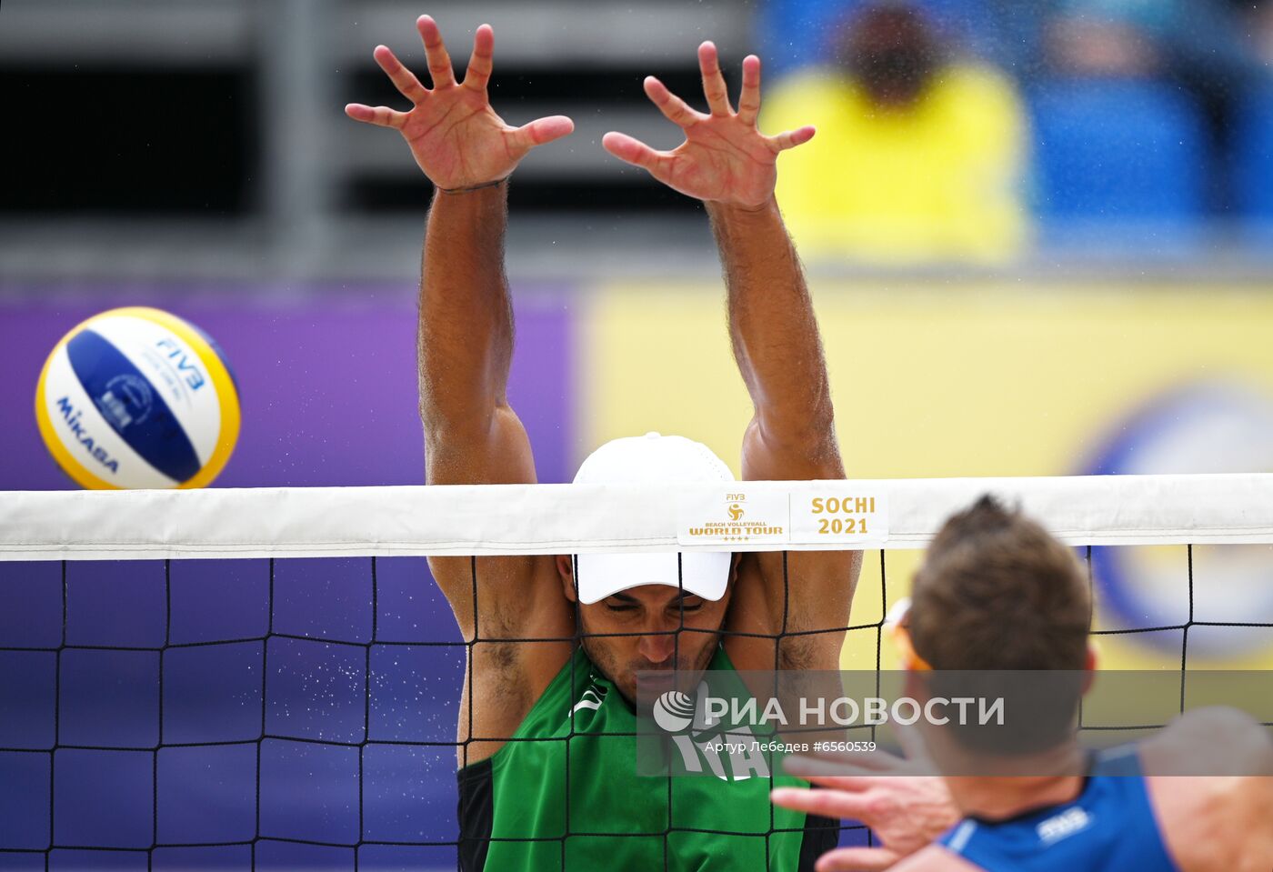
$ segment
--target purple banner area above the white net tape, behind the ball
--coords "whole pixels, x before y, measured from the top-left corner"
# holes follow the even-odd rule
[[[555,294],[538,293],[556,290]],[[540,481],[569,481],[574,438],[572,318],[561,288],[519,289],[509,400],[526,424]],[[218,488],[424,482],[416,411],[416,309],[410,289],[384,285],[289,300],[236,289],[98,292],[90,302],[0,298],[0,381],[10,410],[0,490],[74,488],[43,449],[34,384],[59,339],[117,306],[154,306],[191,321],[225,351],[239,383],[243,429]],[[31,302],[18,302],[27,300]],[[547,300],[552,302],[547,302]],[[544,300],[544,302],[536,302]]]

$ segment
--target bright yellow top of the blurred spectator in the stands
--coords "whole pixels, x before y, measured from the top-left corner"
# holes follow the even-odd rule
[[[989,67],[946,67],[905,108],[807,70],[766,95],[761,122],[817,127],[778,163],[778,202],[806,257],[994,262],[1026,241],[1025,112]]]

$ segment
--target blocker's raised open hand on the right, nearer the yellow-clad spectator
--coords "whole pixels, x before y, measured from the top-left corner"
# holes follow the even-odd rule
[[[737,112],[729,106],[721,61],[710,42],[699,46],[699,69],[710,115],[691,109],[654,76],[645,78],[645,94],[668,121],[685,131],[681,145],[671,151],[657,151],[615,131],[606,134],[601,143],[620,160],[645,168],[663,185],[686,196],[757,209],[774,193],[778,154],[807,143],[813,137],[813,129],[801,127],[778,136],[764,136],[756,129],[760,59],[755,55],[742,61]]]

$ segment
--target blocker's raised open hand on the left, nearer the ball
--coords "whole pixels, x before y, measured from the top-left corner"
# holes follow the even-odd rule
[[[420,15],[415,27],[424,41],[433,88],[421,85],[386,46],[377,46],[376,62],[411,101],[412,108],[398,112],[387,106],[350,103],[345,113],[355,121],[393,127],[402,134],[415,162],[437,187],[463,190],[507,178],[531,149],[574,130],[570,118],[560,115],[510,127],[490,108],[486,83],[495,48],[490,24],[482,24],[474,34],[463,81],[456,81],[438,24]]]

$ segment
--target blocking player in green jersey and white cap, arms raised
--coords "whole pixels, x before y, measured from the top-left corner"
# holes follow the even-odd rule
[[[418,29],[432,88],[379,46],[377,62],[412,108],[346,112],[401,132],[437,188],[420,285],[428,481],[533,482],[531,446],[505,396],[505,197],[518,162],[573,125],[552,116],[510,127],[495,115],[490,27],[477,29],[462,81],[433,19],[421,17]],[[843,479],[817,325],[774,201],[779,153],[813,130],[760,134],[757,57],[743,61],[737,111],[712,43],[700,46],[699,62],[708,113],[645,80],[648,97],[685,131],[681,146],[656,151],[619,132],[603,145],[705,205],[735,358],[755,405],[740,434],[743,476]],[[577,480],[634,477],[732,476],[704,446],[649,434],[607,443]],[[835,670],[859,565],[852,552],[799,552],[787,563],[782,554],[685,555],[681,572],[675,554],[430,559],[465,638],[477,640],[458,724],[462,866],[812,868],[836,833],[803,812],[773,817],[769,779],[635,775],[635,673]]]

